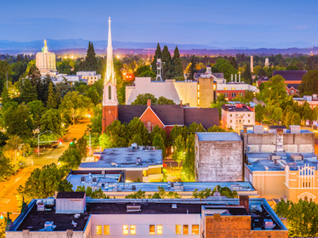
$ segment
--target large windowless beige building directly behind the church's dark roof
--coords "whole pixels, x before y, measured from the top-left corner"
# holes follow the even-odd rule
[[[199,78],[198,81],[152,81],[150,77],[137,77],[134,85],[126,86],[126,105],[132,104],[139,94],[150,93],[172,99],[175,104],[189,104],[191,107],[209,108],[216,99],[216,83],[213,78]]]

